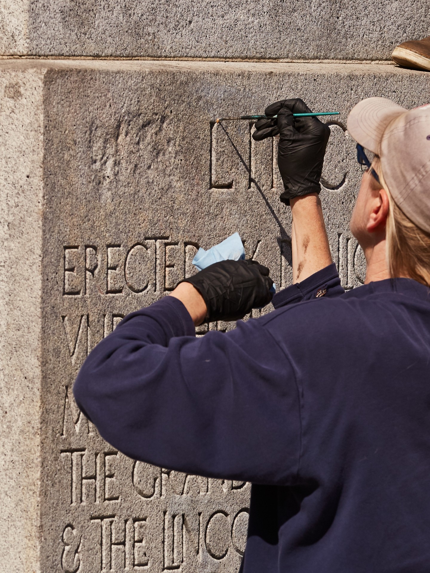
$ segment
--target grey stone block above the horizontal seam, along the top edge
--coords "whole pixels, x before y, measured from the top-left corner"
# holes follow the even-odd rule
[[[0,48],[36,56],[384,60],[400,42],[430,34],[429,11],[429,0],[18,0],[0,7]]]

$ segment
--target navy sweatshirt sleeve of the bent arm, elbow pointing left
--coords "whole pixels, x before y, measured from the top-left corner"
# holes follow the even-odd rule
[[[101,436],[131,458],[207,477],[295,481],[298,388],[261,319],[196,338],[184,305],[166,296],[93,349],[73,392]]]

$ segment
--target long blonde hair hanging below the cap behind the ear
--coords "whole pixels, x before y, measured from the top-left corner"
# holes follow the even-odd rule
[[[398,207],[385,183],[377,156],[372,167],[388,195],[390,206],[386,223],[386,261],[390,276],[409,277],[430,286],[430,233],[415,225]]]

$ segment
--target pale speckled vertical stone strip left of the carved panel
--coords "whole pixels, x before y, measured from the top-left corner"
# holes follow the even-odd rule
[[[43,79],[0,71],[0,570],[39,569]]]

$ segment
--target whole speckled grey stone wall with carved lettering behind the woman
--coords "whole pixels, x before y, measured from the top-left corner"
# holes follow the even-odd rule
[[[329,118],[321,198],[342,284],[354,288],[365,265],[348,230],[361,169],[347,113],[374,95],[406,107],[430,100],[430,74],[389,62],[185,60],[386,58],[408,34],[429,33],[420,16],[427,2],[398,18],[382,15],[396,9],[388,3],[359,12],[312,3],[296,7],[293,30],[281,25],[291,22],[292,2],[275,3],[278,21],[264,6],[167,12],[158,4],[127,14],[113,2],[2,8],[0,561],[10,573],[239,569],[249,484],[116,452],[79,413],[73,380],[124,315],[194,272],[198,246],[239,231],[277,287],[290,284],[277,141],[254,142],[252,122],[217,125],[216,117],[295,96],[341,112]],[[232,327],[211,323],[197,333]]]

